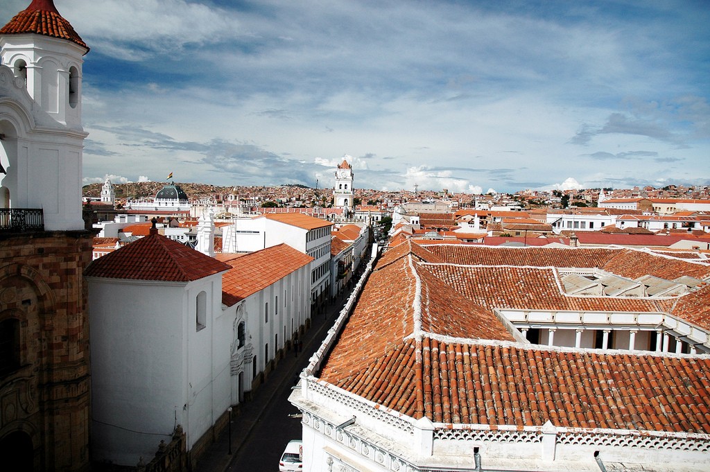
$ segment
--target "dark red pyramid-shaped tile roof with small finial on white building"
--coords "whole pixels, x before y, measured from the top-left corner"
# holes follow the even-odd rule
[[[190,282],[224,270],[229,270],[229,265],[160,234],[151,234],[94,260],[84,271],[84,275]]]

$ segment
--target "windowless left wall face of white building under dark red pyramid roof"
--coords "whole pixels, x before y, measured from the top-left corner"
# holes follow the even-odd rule
[[[89,278],[94,460],[133,466],[182,422],[184,291]]]

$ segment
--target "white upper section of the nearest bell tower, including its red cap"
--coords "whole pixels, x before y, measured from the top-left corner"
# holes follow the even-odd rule
[[[84,229],[82,57],[89,51],[53,0],[33,0],[0,29],[0,190],[41,209],[48,231]]]

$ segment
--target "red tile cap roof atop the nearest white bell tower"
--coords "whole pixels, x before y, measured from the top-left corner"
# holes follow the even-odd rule
[[[0,35],[35,33],[70,40],[89,51],[69,21],[62,18],[52,0],[33,0],[30,6],[17,13],[0,29]]]

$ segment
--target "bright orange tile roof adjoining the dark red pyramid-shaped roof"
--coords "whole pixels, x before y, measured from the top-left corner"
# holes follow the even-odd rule
[[[231,267],[229,272],[222,276],[222,303],[231,307],[239,300],[244,300],[310,264],[312,260],[314,259],[311,256],[288,244],[279,244],[226,260]]]

